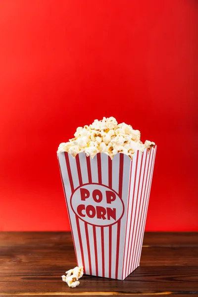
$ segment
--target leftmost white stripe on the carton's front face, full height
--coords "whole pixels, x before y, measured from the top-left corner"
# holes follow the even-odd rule
[[[70,219],[71,219],[71,222],[69,222],[69,223],[70,223],[70,226],[72,225],[71,229],[73,231],[73,239],[75,242],[78,264],[82,266],[83,263],[82,263],[82,257],[81,257],[81,249],[80,249],[78,231],[77,231],[77,226],[76,226],[76,217],[75,217],[75,214],[72,211],[71,206],[70,206],[71,187],[70,187],[70,183],[69,183],[69,177],[68,177],[64,152],[58,154],[58,160],[59,160],[60,170],[61,170],[62,179],[63,179],[65,192],[66,192],[65,199],[67,199],[68,212],[69,212]]]

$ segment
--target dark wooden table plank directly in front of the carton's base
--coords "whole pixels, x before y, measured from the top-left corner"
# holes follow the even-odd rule
[[[1,277],[3,279],[1,279]],[[63,291],[71,292],[67,284],[61,281],[59,271],[53,273],[6,273],[0,277],[0,294],[14,294],[20,290],[48,292]],[[14,286],[14,290],[12,289]],[[198,267],[187,266],[140,266],[124,281],[93,276],[84,276],[76,290],[87,291],[119,292],[122,293],[152,293],[162,291],[198,291]],[[72,290],[75,291],[75,290]]]

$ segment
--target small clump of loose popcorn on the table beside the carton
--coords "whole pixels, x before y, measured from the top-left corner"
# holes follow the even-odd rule
[[[65,273],[66,276],[62,275],[63,282],[66,282],[70,288],[75,288],[80,284],[78,279],[83,276],[83,267],[76,266],[74,269],[70,269]]]

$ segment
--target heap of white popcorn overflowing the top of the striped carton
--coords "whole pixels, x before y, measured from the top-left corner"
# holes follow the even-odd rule
[[[155,143],[146,140],[140,141],[140,131],[134,130],[125,123],[118,124],[114,117],[95,120],[91,125],[78,127],[74,138],[67,143],[61,143],[57,153],[67,151],[74,157],[84,151],[92,158],[98,152],[104,152],[111,158],[118,152],[122,152],[133,158],[136,150],[150,149]]]

